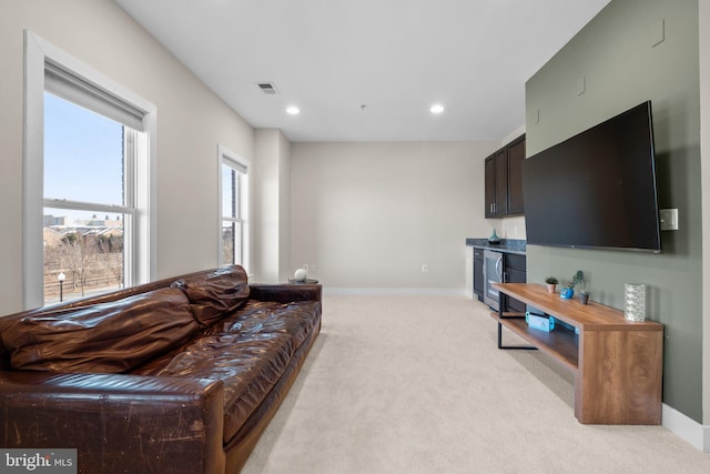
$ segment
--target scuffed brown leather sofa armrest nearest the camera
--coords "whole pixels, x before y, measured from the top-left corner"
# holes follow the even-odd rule
[[[79,472],[223,473],[222,382],[0,372],[0,445],[77,448]]]

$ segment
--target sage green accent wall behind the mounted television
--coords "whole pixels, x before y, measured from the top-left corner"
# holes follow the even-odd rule
[[[529,245],[527,265],[536,283],[582,270],[591,299],[620,310],[623,284],[645,283],[647,317],[665,324],[663,403],[702,423],[698,48],[697,0],[612,0],[527,81],[528,157],[651,100],[659,205],[680,228],[661,254]]]

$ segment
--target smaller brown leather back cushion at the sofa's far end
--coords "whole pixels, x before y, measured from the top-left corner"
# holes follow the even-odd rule
[[[178,280],[173,286],[185,292],[192,314],[205,326],[214,324],[248,300],[246,272],[240,265]]]

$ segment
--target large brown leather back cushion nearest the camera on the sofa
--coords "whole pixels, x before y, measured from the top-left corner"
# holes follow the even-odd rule
[[[13,369],[120,373],[185,343],[199,329],[185,294],[165,288],[27,316],[6,329],[2,341]]]

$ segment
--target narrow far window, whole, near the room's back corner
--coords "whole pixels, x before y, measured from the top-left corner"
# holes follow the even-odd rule
[[[248,164],[223,147],[220,157],[220,265],[248,265]]]

